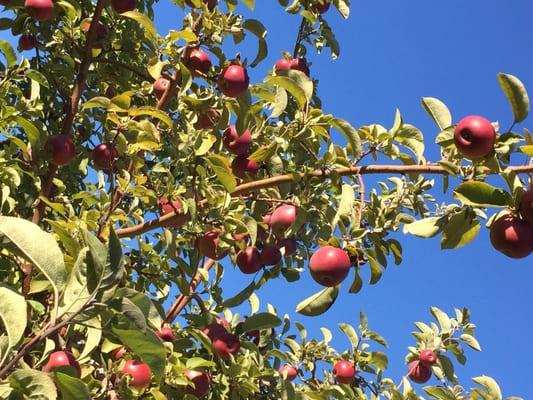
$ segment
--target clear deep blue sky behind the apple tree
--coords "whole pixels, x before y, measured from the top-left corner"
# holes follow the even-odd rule
[[[424,132],[426,157],[437,160],[438,149],[433,144],[437,130],[420,106],[421,97],[434,96],[446,102],[454,121],[480,114],[508,127],[512,113],[496,74],[519,76],[533,93],[531,0],[352,3],[348,21],[333,9],[326,14],[341,44],[340,58],[332,61],[327,50],[309,57],[312,76],[320,81],[325,112],[348,119],[354,126],[390,126],[398,107],[407,122]],[[157,11],[161,33],[180,28],[182,13],[170,1],[161,1]],[[299,19],[284,13],[274,0],[257,0],[253,17],[268,29],[269,57],[250,71],[252,81],[258,82],[281,51],[292,50]],[[0,38],[7,36],[0,32]],[[228,49],[235,52],[231,46]],[[238,51],[253,59],[255,40],[245,41]],[[533,128],[531,121],[529,118],[524,126]],[[434,194],[442,199],[438,187]],[[366,286],[358,295],[348,294],[349,283],[345,283],[337,303],[322,316],[307,318],[294,313],[300,300],[320,289],[307,273],[292,284],[269,282],[258,293],[262,304],[270,302],[280,314],[289,313],[319,338],[319,328],[329,327],[339,349],[348,342],[335,325],[357,325],[359,311],[364,310],[371,328],[389,341],[389,375],[395,378],[404,374],[407,346],[415,343],[410,335],[413,321],[430,320],[432,305],[447,312],[468,306],[479,327],[483,352],[467,353],[467,366],[456,369],[461,381],[468,387],[469,377],[487,374],[497,379],[504,395],[533,398],[533,349],[529,345],[533,257],[515,261],[495,252],[485,229],[469,246],[455,251],[441,251],[437,240],[407,236],[401,240],[404,262],[400,267],[389,267],[379,285]],[[226,295],[236,293],[248,279],[228,268]]]

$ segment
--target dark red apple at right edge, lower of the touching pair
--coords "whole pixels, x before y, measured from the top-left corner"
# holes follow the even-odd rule
[[[533,226],[512,215],[498,218],[490,227],[494,248],[511,258],[524,258],[533,251]]]

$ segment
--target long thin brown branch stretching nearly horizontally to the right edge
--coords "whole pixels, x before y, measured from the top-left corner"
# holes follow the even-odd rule
[[[524,165],[524,166],[515,166],[507,168],[510,171],[515,173],[530,173],[533,172],[533,165]],[[300,179],[326,179],[330,175],[336,174],[340,176],[351,176],[351,175],[376,175],[376,174],[439,174],[447,175],[448,172],[438,164],[424,164],[424,165],[367,165],[363,167],[342,167],[332,170],[316,170],[308,173],[301,172],[299,174],[287,174],[287,175],[278,175],[271,178],[261,179],[254,182],[243,183],[235,188],[232,196],[239,196],[242,194],[250,193],[257,191],[259,189],[265,189],[269,187],[279,186],[283,183],[290,183],[295,180],[295,175]],[[491,172],[490,174],[494,175],[497,172]],[[198,207],[203,207],[207,204],[207,200],[203,199],[198,202]],[[143,233],[149,232],[151,230],[160,228],[163,226],[164,222],[171,220],[177,213],[169,213],[161,216],[159,218],[153,219],[148,222],[144,222],[139,225],[135,225],[129,228],[122,228],[116,231],[119,237],[131,237],[136,235],[141,235]]]

